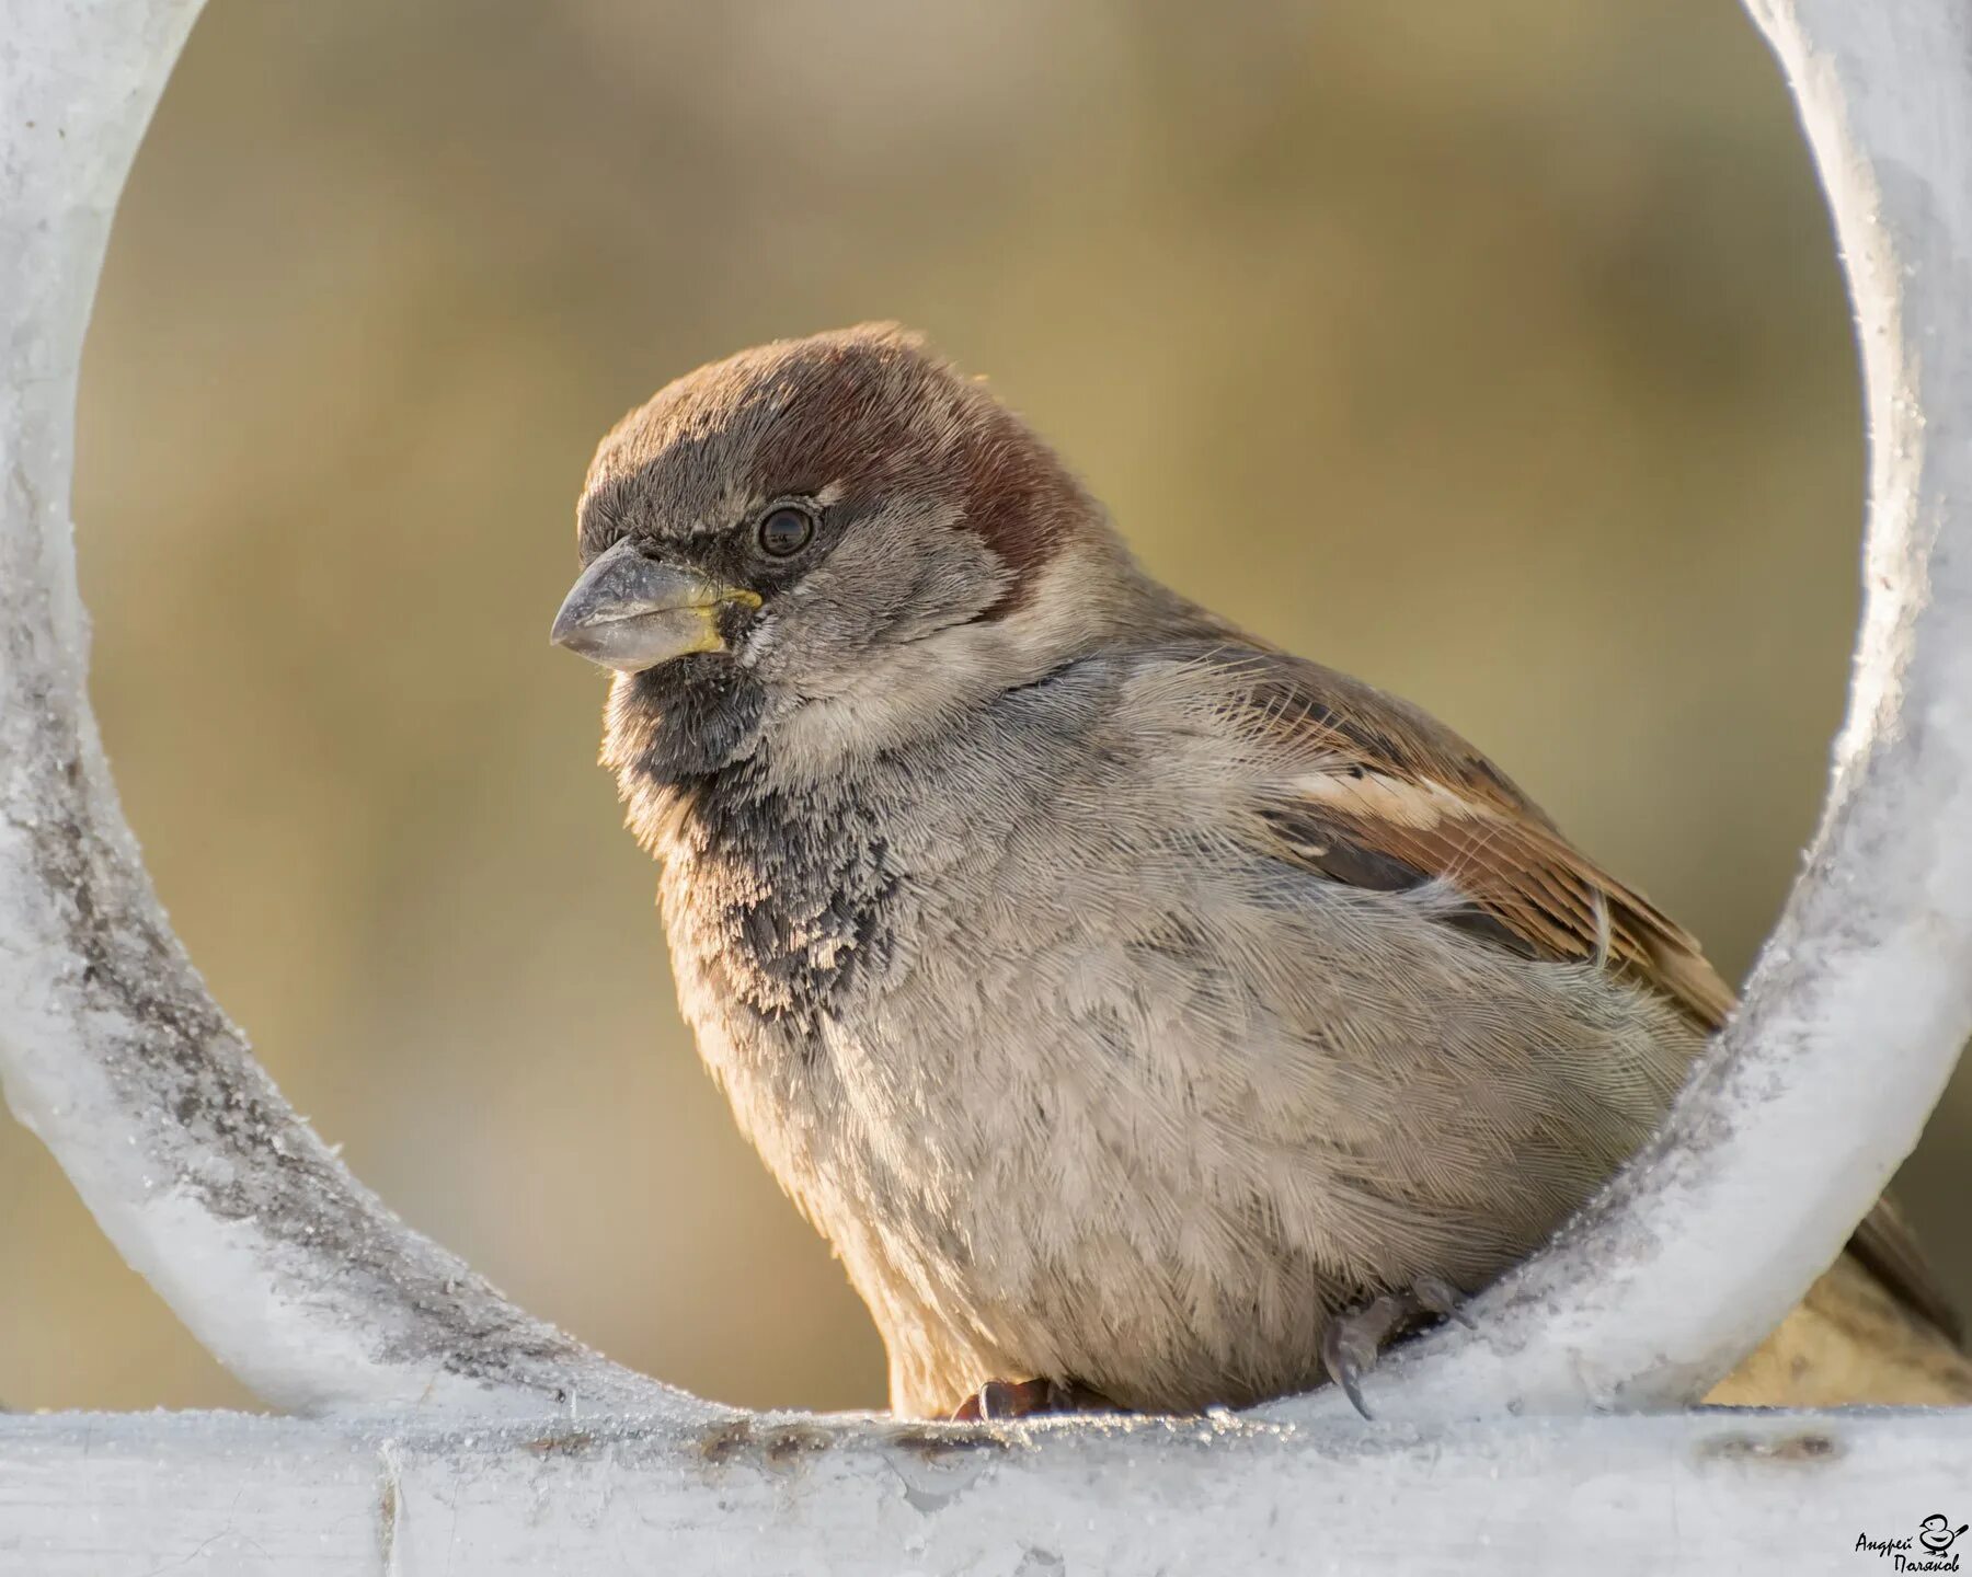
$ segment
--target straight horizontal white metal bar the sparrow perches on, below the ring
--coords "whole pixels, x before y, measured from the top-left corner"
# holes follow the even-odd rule
[[[1891,1577],[1858,1538],[1972,1520],[1942,1413],[1045,1433],[0,1419],[0,1577]]]

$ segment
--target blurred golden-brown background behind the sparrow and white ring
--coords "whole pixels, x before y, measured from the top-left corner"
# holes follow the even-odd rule
[[[603,680],[546,647],[603,428],[866,317],[1745,970],[1840,718],[1862,444],[1729,0],[213,0],[89,347],[95,694],[193,958],[416,1226],[692,1390],[881,1402],[678,1025]],[[1905,1189],[1972,1307],[1968,1131],[1962,1078]],[[250,1406],[10,1124],[0,1396]]]

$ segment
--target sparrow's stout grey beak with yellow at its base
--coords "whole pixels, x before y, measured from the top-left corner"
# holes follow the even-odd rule
[[[724,651],[722,603],[759,607],[759,597],[617,542],[568,589],[548,639],[603,668],[639,674],[686,652]]]

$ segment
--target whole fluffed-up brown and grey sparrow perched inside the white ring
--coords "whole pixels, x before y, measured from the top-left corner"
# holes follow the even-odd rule
[[[984,382],[862,325],[596,451],[552,639],[678,1005],[901,1415],[1341,1380],[1540,1244],[1733,997],[1416,706],[1148,576]],[[1714,1400],[1972,1402],[1889,1204]]]

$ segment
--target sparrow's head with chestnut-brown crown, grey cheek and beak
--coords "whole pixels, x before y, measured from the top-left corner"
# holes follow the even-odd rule
[[[596,451],[578,536],[552,639],[615,670],[625,788],[840,771],[1100,641],[1144,585],[1055,453],[889,325],[661,390]]]

